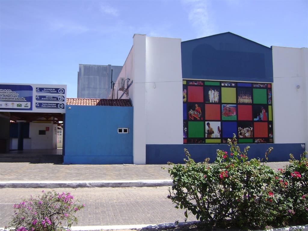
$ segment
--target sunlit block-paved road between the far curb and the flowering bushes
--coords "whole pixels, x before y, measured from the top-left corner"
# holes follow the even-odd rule
[[[51,189],[44,189],[49,191]],[[86,206],[76,213],[78,226],[85,225],[137,225],[184,221],[184,210],[175,209],[167,198],[168,187],[143,188],[61,188],[57,192],[71,192]],[[42,189],[0,189],[0,227],[8,224],[14,203]],[[193,215],[188,221],[196,221]]]

